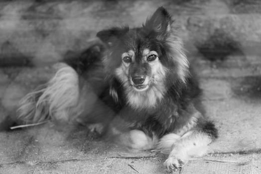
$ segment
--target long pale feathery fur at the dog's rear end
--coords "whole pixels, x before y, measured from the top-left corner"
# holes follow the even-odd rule
[[[54,118],[68,121],[70,108],[75,107],[79,98],[78,74],[65,65],[46,84],[45,88],[28,93],[17,109],[18,118],[28,122],[40,122]],[[37,96],[38,95],[38,96]]]

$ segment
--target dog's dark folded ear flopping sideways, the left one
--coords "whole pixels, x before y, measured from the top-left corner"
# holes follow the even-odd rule
[[[111,29],[99,31],[96,36],[99,37],[108,47],[111,47],[117,40],[119,40],[120,37],[124,36],[128,31],[129,27],[113,27]]]

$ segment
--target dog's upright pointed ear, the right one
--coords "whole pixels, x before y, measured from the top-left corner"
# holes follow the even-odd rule
[[[156,33],[157,38],[164,39],[168,32],[171,32],[171,16],[164,7],[159,7],[151,17],[149,17],[143,28],[149,33]]]

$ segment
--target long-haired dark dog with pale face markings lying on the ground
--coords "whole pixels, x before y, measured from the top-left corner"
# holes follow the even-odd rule
[[[55,76],[20,101],[17,118],[95,125],[134,150],[168,154],[168,171],[202,156],[218,137],[170,14],[159,7],[141,27],[113,27],[66,58]]]

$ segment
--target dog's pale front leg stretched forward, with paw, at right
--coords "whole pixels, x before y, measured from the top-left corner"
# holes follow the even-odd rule
[[[187,132],[172,145],[164,166],[169,171],[176,171],[182,168],[190,158],[204,155],[207,151],[207,146],[211,142],[212,137],[201,130]]]

